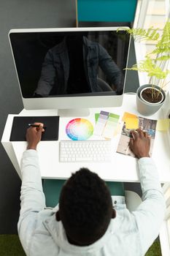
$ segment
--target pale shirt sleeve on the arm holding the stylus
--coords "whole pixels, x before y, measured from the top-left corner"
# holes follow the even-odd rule
[[[23,248],[28,252],[29,242],[36,227],[37,214],[45,208],[45,195],[42,191],[37,151],[30,149],[23,153],[21,172],[22,185],[18,234]]]

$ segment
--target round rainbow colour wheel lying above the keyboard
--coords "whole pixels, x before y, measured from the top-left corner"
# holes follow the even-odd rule
[[[93,135],[93,124],[84,118],[74,118],[66,125],[66,135],[71,140],[88,140]]]

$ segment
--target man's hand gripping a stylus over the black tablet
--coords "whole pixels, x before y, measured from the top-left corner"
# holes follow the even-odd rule
[[[26,140],[28,142],[27,149],[34,149],[36,150],[36,146],[42,138],[42,132],[45,132],[43,129],[42,123],[34,123],[38,124],[39,127],[30,127],[27,129],[26,132]]]

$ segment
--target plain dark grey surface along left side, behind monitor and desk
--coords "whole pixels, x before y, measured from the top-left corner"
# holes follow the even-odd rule
[[[9,113],[20,113],[18,80],[7,34],[9,29],[71,27],[76,24],[73,0],[0,1],[0,138]],[[20,179],[0,145],[0,233],[17,233]]]

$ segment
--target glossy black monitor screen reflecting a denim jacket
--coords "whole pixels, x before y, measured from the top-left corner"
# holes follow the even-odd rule
[[[123,94],[125,31],[10,34],[24,98]]]

